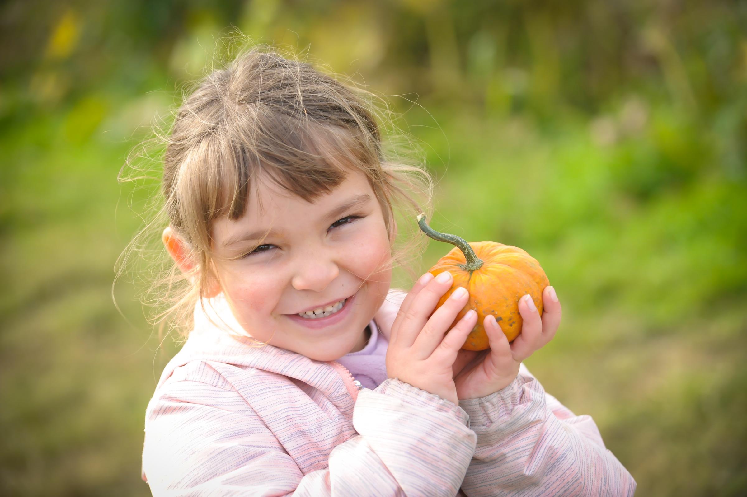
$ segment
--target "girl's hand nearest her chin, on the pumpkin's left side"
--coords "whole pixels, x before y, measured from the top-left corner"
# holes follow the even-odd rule
[[[459,287],[436,309],[438,300],[451,288],[452,280],[448,271],[435,279],[426,273],[409,291],[391,325],[386,373],[390,378],[398,378],[459,404],[452,365],[456,353],[477,324],[477,313],[468,311],[449,330],[468,297],[467,290]]]

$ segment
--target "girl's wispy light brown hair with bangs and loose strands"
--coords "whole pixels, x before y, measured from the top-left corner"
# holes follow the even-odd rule
[[[196,89],[173,113],[170,132],[156,130],[155,138],[146,141],[165,145],[158,161],[163,165],[161,194],[152,199],[157,213],[117,261],[117,278],[134,254],[149,264],[140,300],[152,307],[159,336],[164,327],[169,333],[179,330],[182,337],[189,333],[194,306],[199,301],[204,307],[214,278],[211,223],[244,214],[252,179],[256,188],[260,172],[309,202],[332,191],[347,171],[364,173],[382,207],[392,265],[403,266],[414,278],[406,263],[421,257],[427,241],[414,220],[420,212],[430,214],[433,180],[403,133],[391,132],[382,141],[380,123],[392,124],[392,115],[381,97],[349,78],[338,81],[334,73],[266,44],[241,50],[226,67],[196,81]],[[147,168],[134,159],[147,155],[130,155],[120,181],[146,177],[140,173]],[[136,174],[125,176],[128,169]],[[399,230],[394,229],[397,217]],[[161,244],[166,225],[189,247],[194,262],[189,274],[179,271]],[[403,226],[410,228],[410,236],[403,236]],[[149,245],[156,238],[158,255],[153,257]]]

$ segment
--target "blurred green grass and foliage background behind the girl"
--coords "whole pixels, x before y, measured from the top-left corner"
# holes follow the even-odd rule
[[[638,495],[747,494],[747,2],[8,1],[0,22],[0,494],[149,495],[144,411],[178,345],[127,279],[112,302],[157,188],[117,174],[235,29],[392,95],[433,226],[539,259],[564,317],[527,365]]]

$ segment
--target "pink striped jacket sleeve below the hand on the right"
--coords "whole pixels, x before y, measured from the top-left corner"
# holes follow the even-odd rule
[[[523,364],[506,388],[459,406],[477,434],[462,484],[468,497],[618,497],[636,490],[594,420],[575,416],[545,393]]]

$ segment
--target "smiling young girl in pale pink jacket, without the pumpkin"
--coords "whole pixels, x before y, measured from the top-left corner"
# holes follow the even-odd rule
[[[560,323],[552,287],[542,318],[521,299],[512,344],[486,318],[482,353],[460,351],[474,312],[450,328],[466,291],[434,312],[450,274],[390,291],[393,206],[415,224],[430,183],[359,91],[255,48],[179,109],[163,241],[193,318],[146,411],[153,495],[633,495],[592,419],[521,364]]]

